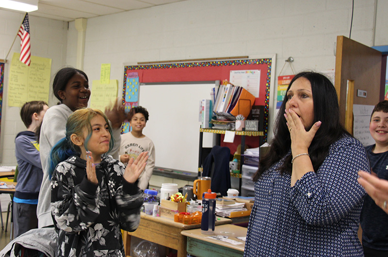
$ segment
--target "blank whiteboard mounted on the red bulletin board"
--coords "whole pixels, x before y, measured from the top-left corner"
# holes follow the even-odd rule
[[[142,83],[139,105],[149,119],[143,134],[155,145],[155,166],[198,172],[199,102],[210,99],[215,81]],[[212,147],[212,133],[203,133],[203,147]]]

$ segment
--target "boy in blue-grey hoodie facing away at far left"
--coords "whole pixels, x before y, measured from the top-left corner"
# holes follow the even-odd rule
[[[36,206],[43,170],[35,132],[41,125],[47,109],[49,106],[44,101],[27,102],[20,109],[20,117],[27,130],[19,132],[15,138],[15,155],[18,165],[16,192],[13,198],[15,237],[38,227]]]

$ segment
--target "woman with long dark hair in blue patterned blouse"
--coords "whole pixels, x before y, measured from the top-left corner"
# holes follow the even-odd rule
[[[359,170],[370,164],[363,145],[340,124],[333,84],[319,73],[297,74],[254,176],[244,256],[363,256]]]

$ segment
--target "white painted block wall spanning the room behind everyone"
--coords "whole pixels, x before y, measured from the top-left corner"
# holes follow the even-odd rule
[[[90,18],[84,71],[90,81],[98,80],[100,65],[110,63],[111,79],[122,86],[124,64],[273,54],[277,54],[275,78],[289,56],[295,60],[296,72],[334,69],[334,44],[337,35],[349,36],[351,4],[346,0],[188,0]],[[388,45],[387,9],[386,0],[355,0],[351,38],[367,46]],[[22,18],[0,10],[0,59],[5,58]],[[31,13],[30,24],[32,55],[51,58],[52,74],[65,64],[76,66],[74,22],[67,30],[67,22]],[[17,43],[13,51],[19,51]],[[281,75],[291,73],[286,66]],[[14,139],[24,126],[19,108],[7,107],[7,80],[6,76],[0,155],[3,165],[15,165]]]

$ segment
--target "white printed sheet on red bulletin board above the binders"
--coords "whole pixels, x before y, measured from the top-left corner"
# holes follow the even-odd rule
[[[259,97],[260,71],[259,70],[231,70],[229,82],[235,86],[245,88],[256,98]]]

